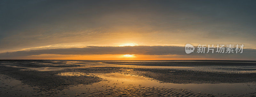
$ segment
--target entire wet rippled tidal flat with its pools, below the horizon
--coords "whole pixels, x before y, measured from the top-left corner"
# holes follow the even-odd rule
[[[1,60],[0,96],[256,96],[252,62],[179,62]]]

